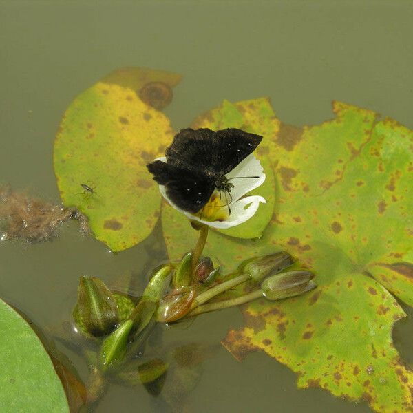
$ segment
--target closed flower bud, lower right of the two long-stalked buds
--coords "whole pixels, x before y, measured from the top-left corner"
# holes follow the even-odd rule
[[[289,271],[264,279],[261,288],[264,297],[271,301],[294,297],[313,290],[317,286],[315,282],[311,281],[313,277],[314,274],[310,271]]]

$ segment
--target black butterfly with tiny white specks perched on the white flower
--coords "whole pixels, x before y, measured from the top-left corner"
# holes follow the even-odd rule
[[[215,189],[231,193],[233,184],[225,175],[253,153],[261,140],[260,135],[235,128],[182,129],[165,151],[167,162],[155,160],[147,169],[178,208],[197,213]]]

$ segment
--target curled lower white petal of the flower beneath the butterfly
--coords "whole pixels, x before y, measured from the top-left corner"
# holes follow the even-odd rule
[[[213,228],[225,229],[231,228],[231,226],[240,225],[252,218],[260,206],[260,202],[265,204],[266,200],[259,195],[247,196],[246,198],[233,202],[233,204],[231,204],[231,215],[229,215],[228,220],[225,221],[205,221],[201,220],[199,217],[195,217],[195,215],[192,215],[191,213],[183,212],[191,220],[202,222],[202,224],[206,224]]]

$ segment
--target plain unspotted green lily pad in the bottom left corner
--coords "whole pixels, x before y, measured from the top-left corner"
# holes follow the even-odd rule
[[[0,300],[2,412],[69,412],[65,391],[32,328]]]

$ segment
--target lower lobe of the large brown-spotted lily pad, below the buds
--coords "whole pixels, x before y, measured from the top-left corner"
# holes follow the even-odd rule
[[[251,324],[257,316],[266,322],[261,330]],[[222,344],[239,361],[263,350],[297,373],[299,388],[364,399],[377,412],[407,412],[413,372],[391,339],[401,317],[399,304],[374,279],[343,275],[339,286],[319,286],[306,296],[253,302],[244,308],[245,327],[231,330]]]

